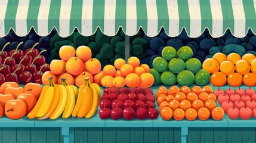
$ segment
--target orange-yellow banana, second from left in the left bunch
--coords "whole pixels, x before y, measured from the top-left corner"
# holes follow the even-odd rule
[[[53,98],[53,103],[51,104],[51,108],[48,111],[47,114],[45,114],[45,116],[38,118],[39,120],[44,120],[47,119],[48,117],[51,116],[51,114],[53,114],[53,112],[55,111],[55,109],[57,108],[58,102],[60,101],[60,90],[57,88],[58,85],[54,85],[54,98]]]

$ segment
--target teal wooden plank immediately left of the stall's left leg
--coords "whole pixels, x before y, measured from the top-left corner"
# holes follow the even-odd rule
[[[60,133],[60,128],[47,128],[47,142],[60,142],[60,138],[56,138],[56,136],[60,136]]]

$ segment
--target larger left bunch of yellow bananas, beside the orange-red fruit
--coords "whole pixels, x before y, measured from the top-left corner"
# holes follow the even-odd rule
[[[42,89],[38,102],[27,114],[27,118],[54,120],[62,114],[62,118],[67,119],[72,114],[78,98],[78,88],[67,85],[65,78],[61,78],[61,85],[54,85],[53,77],[49,78],[49,83]]]

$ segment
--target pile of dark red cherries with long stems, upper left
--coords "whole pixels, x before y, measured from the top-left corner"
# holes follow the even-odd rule
[[[9,44],[10,42],[6,43],[4,48]],[[42,74],[50,70],[50,66],[45,64],[45,57],[40,55],[46,50],[39,53],[38,49],[34,49],[39,43],[24,52],[18,49],[21,44],[23,42],[18,43],[17,48],[9,52],[4,51],[4,48],[0,51],[0,85],[4,82],[42,84]]]

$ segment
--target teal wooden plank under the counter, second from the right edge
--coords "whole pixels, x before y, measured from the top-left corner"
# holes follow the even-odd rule
[[[242,128],[227,128],[227,143],[242,143]]]

